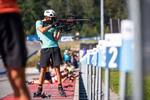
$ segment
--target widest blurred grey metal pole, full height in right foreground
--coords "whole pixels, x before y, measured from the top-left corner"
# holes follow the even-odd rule
[[[141,40],[141,0],[128,0],[130,19],[134,22],[134,70],[132,74],[133,100],[143,100],[142,89],[142,40]]]

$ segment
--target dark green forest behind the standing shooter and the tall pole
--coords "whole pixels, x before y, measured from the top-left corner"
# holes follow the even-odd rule
[[[22,20],[26,35],[36,34],[35,22],[43,19],[45,9],[53,9],[57,18],[66,18],[75,14],[77,18],[90,18],[91,22],[77,23],[77,27],[69,33],[80,32],[82,37],[98,36],[100,34],[100,0],[19,0]],[[108,30],[109,19],[124,19],[127,17],[127,7],[124,0],[105,0],[104,23]]]

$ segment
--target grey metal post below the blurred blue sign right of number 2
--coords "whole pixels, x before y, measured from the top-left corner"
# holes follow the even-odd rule
[[[120,100],[125,100],[126,72],[120,72]]]

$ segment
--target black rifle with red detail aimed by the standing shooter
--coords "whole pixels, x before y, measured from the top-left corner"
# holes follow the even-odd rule
[[[76,19],[75,15],[69,15],[66,19],[54,19],[53,22],[58,23],[57,28],[62,28],[65,32],[68,32],[76,27],[77,22],[89,22],[90,19]],[[52,24],[52,21],[43,21],[43,26],[45,24]]]

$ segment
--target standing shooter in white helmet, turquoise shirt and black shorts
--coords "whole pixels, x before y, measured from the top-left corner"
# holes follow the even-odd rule
[[[42,85],[44,81],[44,76],[46,68],[50,64],[50,59],[52,60],[52,66],[55,68],[58,82],[58,91],[61,96],[66,96],[61,82],[60,65],[62,64],[62,57],[60,54],[60,48],[58,45],[58,40],[61,34],[61,29],[57,29],[58,23],[53,22],[56,19],[56,13],[54,10],[48,9],[44,11],[44,19],[36,21],[36,32],[41,42],[41,56],[40,65],[41,73],[39,76],[39,87],[37,90],[37,96],[42,93]],[[49,20],[50,24],[42,24],[43,21]]]

